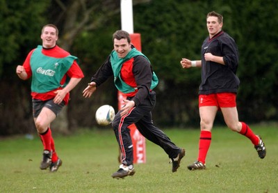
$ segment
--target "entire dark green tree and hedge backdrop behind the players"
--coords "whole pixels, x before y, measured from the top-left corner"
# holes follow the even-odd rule
[[[249,123],[278,118],[277,28],[278,3],[258,1],[133,0],[135,33],[142,52],[160,79],[156,88],[154,121],[159,126],[198,128],[197,91],[200,70],[182,69],[181,58],[199,59],[206,38],[206,13],[224,16],[224,31],[238,44],[238,112]],[[0,135],[34,132],[30,82],[21,81],[15,68],[41,44],[44,24],[58,26],[58,45],[78,56],[85,78],[71,93],[65,109],[68,131],[95,125],[95,111],[106,103],[117,109],[117,91],[109,79],[90,99],[82,91],[113,49],[111,35],[120,29],[120,3],[113,0],[0,0]],[[59,120],[58,120],[59,122]],[[222,124],[221,114],[216,124]],[[55,128],[54,128],[55,129]]]

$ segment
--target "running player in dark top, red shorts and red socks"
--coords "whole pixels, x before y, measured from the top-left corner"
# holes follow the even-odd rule
[[[182,68],[202,68],[202,83],[199,86],[200,137],[199,156],[196,162],[188,166],[189,170],[206,169],[206,154],[211,145],[211,130],[218,110],[222,111],[224,121],[234,132],[243,134],[252,141],[259,157],[266,154],[263,140],[244,122],[238,121],[236,93],[239,79],[238,48],[233,38],[222,31],[223,17],[214,11],[206,16],[209,36],[202,45],[202,60],[182,59]]]

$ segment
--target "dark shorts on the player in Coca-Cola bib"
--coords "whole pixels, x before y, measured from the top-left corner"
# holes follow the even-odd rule
[[[40,111],[42,111],[43,107],[49,108],[51,111],[58,116],[62,108],[65,106],[65,102],[61,102],[60,105],[56,104],[53,102],[53,99],[51,100],[38,100],[38,99],[33,99],[33,117],[37,118],[40,114]]]

